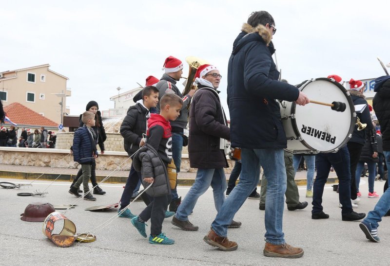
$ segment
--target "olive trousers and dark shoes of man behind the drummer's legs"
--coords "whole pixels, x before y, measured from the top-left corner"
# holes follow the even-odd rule
[[[308,206],[306,201],[299,202],[298,186],[294,180],[294,168],[292,167],[292,153],[284,151],[284,163],[286,165],[287,189],[286,204],[289,211],[302,210]],[[261,177],[259,209],[265,210],[265,196],[267,194],[267,178]]]

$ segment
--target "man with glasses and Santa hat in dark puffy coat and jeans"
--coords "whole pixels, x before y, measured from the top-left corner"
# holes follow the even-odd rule
[[[229,167],[224,152],[224,140],[230,139],[230,130],[217,91],[222,76],[212,65],[200,66],[195,74],[198,90],[190,109],[190,137],[188,155],[190,166],[198,168],[195,183],[187,193],[172,219],[172,224],[184,231],[196,231],[189,220],[199,196],[213,188],[214,205],[217,212],[225,201],[227,188],[223,168]],[[238,228],[240,222],[232,220],[229,228]]]

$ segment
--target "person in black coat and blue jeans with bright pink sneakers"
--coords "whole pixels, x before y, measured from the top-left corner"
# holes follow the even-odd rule
[[[369,171],[369,195],[368,197],[379,197],[374,191],[375,182],[375,168],[378,160],[378,144],[376,142],[376,134],[373,130],[366,130],[366,143],[363,146],[362,153],[360,154],[359,162],[356,167],[356,189],[357,195],[361,196],[359,192],[360,175],[364,168],[364,163],[367,163]]]

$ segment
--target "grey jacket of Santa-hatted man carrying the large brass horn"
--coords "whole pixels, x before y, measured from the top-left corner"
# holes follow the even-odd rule
[[[174,128],[179,128],[180,132],[183,132],[183,129],[187,127],[188,123],[188,109],[187,106],[191,102],[191,96],[189,94],[182,95],[179,89],[176,87],[176,80],[173,79],[168,74],[163,74],[160,81],[156,84],[158,89],[158,100],[167,92],[167,90],[172,90],[183,100],[183,106],[181,106],[180,115],[175,121],[171,121],[171,126]],[[160,112],[160,102],[157,104],[157,112]]]

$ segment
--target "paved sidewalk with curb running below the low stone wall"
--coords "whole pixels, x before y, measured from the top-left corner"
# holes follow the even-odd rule
[[[78,169],[73,168],[52,168],[47,166],[29,166],[29,165],[8,165],[0,164],[0,178],[17,178],[17,179],[36,179],[39,180],[55,180],[71,181],[76,177]],[[306,185],[307,171],[297,172],[295,181],[299,186]],[[316,173],[314,173],[315,177]],[[107,183],[126,183],[129,171],[112,171],[112,170],[96,170],[96,177],[98,182],[103,178],[111,176],[105,182]],[[180,172],[177,175],[177,184],[184,186],[191,186],[194,184],[196,173]],[[226,174],[228,180],[230,174]],[[261,178],[261,176],[260,176]],[[337,182],[337,176],[331,172],[328,178],[328,183]]]

